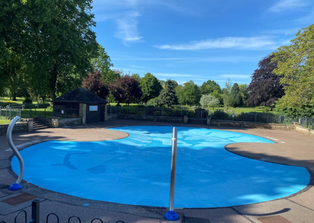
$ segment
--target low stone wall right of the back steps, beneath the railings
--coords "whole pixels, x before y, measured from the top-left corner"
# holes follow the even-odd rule
[[[213,119],[213,120],[211,120],[210,125],[212,125],[212,126],[239,127],[239,128],[264,128],[264,129],[294,131],[294,125],[257,123],[257,122],[223,121],[223,120],[214,120]]]

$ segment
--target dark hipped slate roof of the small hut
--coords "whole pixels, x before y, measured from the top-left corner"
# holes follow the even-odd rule
[[[95,95],[90,90],[86,88],[77,88],[70,91],[56,99],[52,102],[72,102],[72,103],[85,103],[85,104],[107,104],[108,101],[102,99],[98,95]]]

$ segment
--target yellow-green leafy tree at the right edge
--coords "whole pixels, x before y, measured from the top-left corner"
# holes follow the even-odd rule
[[[314,104],[314,24],[300,29],[295,36],[289,46],[273,53],[273,62],[278,61],[273,73],[284,85],[281,108]]]

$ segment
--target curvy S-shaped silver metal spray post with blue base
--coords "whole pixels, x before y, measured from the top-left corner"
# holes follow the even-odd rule
[[[22,185],[20,185],[19,183],[22,181],[22,178],[24,176],[24,161],[23,161],[23,158],[22,158],[21,154],[19,153],[19,150],[17,150],[16,147],[14,146],[13,141],[12,141],[12,130],[13,130],[13,127],[14,127],[15,123],[19,119],[20,119],[20,117],[16,116],[11,121],[11,123],[9,124],[8,130],[7,130],[8,144],[11,147],[11,149],[13,150],[14,154],[16,155],[16,157],[18,158],[19,163],[20,163],[20,174],[19,174],[19,177],[16,180],[16,182],[9,187],[9,190],[19,190],[19,189],[22,189]]]

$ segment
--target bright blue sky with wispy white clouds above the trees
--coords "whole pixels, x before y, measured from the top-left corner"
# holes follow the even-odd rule
[[[178,84],[249,84],[257,63],[314,21],[313,0],[94,0],[114,69]]]

